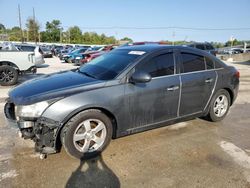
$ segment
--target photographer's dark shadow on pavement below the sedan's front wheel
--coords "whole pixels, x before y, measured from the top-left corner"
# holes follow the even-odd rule
[[[102,156],[90,160],[80,160],[78,168],[71,174],[66,188],[120,187],[114,172],[104,163]]]

